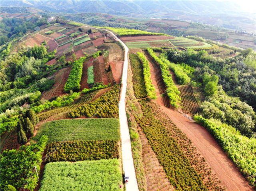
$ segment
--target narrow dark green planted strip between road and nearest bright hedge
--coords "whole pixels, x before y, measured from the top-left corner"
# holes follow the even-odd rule
[[[132,68],[133,90],[136,98],[145,98],[147,96],[144,83],[142,62],[136,54],[129,53],[129,59]]]

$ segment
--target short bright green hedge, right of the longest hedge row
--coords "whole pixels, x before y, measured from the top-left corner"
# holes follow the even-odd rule
[[[182,67],[168,61],[164,55],[161,55],[160,59],[169,67],[170,70],[174,72],[175,79],[180,85],[184,85],[190,82],[190,77],[188,77],[188,75],[183,71]]]

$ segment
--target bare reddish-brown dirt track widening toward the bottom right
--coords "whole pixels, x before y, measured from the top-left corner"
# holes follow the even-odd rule
[[[153,65],[156,65],[156,63],[150,58],[148,58],[148,60],[150,62],[152,84],[156,88],[156,91],[160,92],[159,86],[154,82],[157,72],[154,69],[156,66],[153,67]],[[159,83],[160,82],[158,82],[158,84]],[[222,181],[228,191],[253,191],[252,187],[244,179],[234,163],[222,151],[218,143],[204,127],[191,122],[178,111],[164,106],[164,101],[161,96],[157,96],[156,102],[172,122],[193,142],[199,153],[212,168],[213,173],[216,173],[217,177]]]

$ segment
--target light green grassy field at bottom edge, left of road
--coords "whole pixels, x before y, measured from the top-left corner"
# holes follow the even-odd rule
[[[118,159],[53,162],[44,169],[40,191],[117,191],[122,184]]]

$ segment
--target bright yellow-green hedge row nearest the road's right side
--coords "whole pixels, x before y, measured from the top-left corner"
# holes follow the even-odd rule
[[[137,52],[137,54],[140,60],[142,61],[144,81],[145,81],[148,97],[150,99],[156,99],[156,89],[152,85],[152,80],[150,79],[151,74],[150,74],[150,66],[149,66],[148,60],[146,59],[143,53]]]

